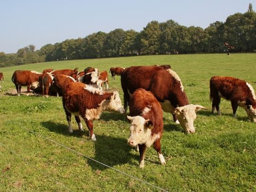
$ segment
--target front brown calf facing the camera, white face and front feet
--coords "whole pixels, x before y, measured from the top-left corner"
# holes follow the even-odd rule
[[[131,116],[127,116],[127,119],[131,123],[131,135],[128,143],[133,147],[138,145],[140,167],[144,167],[145,150],[152,144],[157,151],[159,162],[166,164],[160,143],[164,127],[161,105],[151,92],[139,88],[131,95],[129,108]]]

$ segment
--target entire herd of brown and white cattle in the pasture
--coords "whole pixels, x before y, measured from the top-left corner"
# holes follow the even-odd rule
[[[21,86],[27,86],[27,95],[30,89],[42,91],[46,97],[49,92],[51,95],[62,95],[68,131],[73,132],[71,114],[75,115],[78,128],[83,131],[82,117],[93,141],[96,140],[93,120],[99,119],[102,111],[126,113],[129,107],[130,116],[127,119],[131,135],[128,143],[139,149],[139,166],[144,167],[145,150],[151,145],[157,151],[159,162],[165,164],[161,153],[162,110],[171,113],[174,122],[180,124],[185,133],[194,133],[196,111],[207,108],[189,103],[181,79],[170,65],[111,67],[109,73],[113,79],[115,75],[121,76],[124,107],[117,91],[103,90],[103,85],[108,89],[108,73],[100,72],[97,68],[88,67],[79,73],[77,68],[46,69],[43,73],[16,70],[12,82],[18,95],[21,93]],[[212,113],[217,110],[221,114],[220,99],[224,98],[231,101],[234,116],[240,106],[245,109],[251,121],[256,122],[256,96],[249,83],[233,77],[214,76],[210,80],[210,98]]]

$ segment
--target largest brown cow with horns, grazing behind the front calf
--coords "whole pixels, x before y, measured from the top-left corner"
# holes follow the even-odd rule
[[[121,74],[121,85],[125,111],[130,94],[136,89],[151,91],[160,102],[162,109],[173,115],[174,122],[180,123],[185,133],[195,132],[196,111],[207,109],[188,102],[180,77],[171,69],[157,66],[129,67]]]

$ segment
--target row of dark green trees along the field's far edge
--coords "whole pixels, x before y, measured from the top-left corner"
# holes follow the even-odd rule
[[[140,32],[99,31],[84,38],[46,44],[40,50],[28,45],[17,53],[0,52],[0,67],[66,59],[255,51],[256,13],[250,4],[247,12],[230,15],[225,22],[216,21],[205,29],[181,26],[173,20],[151,21]]]

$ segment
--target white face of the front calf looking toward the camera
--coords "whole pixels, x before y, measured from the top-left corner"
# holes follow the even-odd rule
[[[131,135],[127,141],[129,145],[135,147],[138,144],[143,144],[150,140],[153,122],[141,116],[127,116],[127,119],[130,121],[131,124]]]

